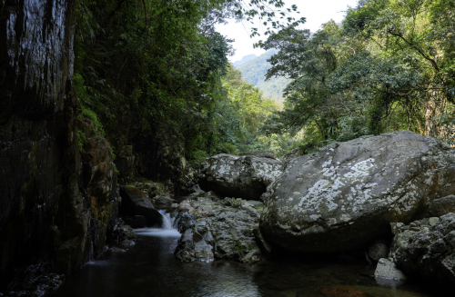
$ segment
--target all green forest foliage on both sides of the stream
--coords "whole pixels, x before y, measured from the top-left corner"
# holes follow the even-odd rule
[[[80,119],[93,120],[114,153],[125,144],[179,145],[194,165],[214,153],[281,154],[296,134],[305,152],[400,129],[452,144],[452,1],[362,0],[342,24],[314,34],[296,29],[304,19],[288,19],[284,7],[280,0],[77,0]],[[231,41],[214,25],[254,17],[270,26],[259,45],[271,68],[254,59],[240,66],[248,68],[242,78],[227,62]],[[258,73],[269,79],[265,96],[248,84]],[[263,98],[289,81],[283,110]]]

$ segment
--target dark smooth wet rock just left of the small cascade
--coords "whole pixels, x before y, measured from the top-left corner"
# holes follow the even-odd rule
[[[161,226],[163,218],[161,213],[153,207],[147,199],[147,195],[135,186],[120,186],[122,204],[120,212],[124,215],[143,215],[147,220],[147,226]]]

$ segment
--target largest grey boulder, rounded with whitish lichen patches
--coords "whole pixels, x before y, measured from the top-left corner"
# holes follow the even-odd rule
[[[261,197],[261,231],[295,252],[341,252],[455,192],[455,150],[409,131],[329,144],[290,160]]]

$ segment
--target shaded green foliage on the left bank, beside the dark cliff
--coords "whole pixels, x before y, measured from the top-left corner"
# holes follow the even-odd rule
[[[256,17],[270,32],[287,30],[303,23],[288,16],[296,9],[281,0],[77,0],[79,118],[93,120],[114,153],[125,144],[147,152],[180,145],[197,163],[262,148],[258,123],[276,108],[254,86],[223,78],[233,49],[214,25]]]

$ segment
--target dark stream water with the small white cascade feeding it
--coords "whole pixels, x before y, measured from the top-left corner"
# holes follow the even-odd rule
[[[318,286],[359,289],[377,297],[454,296],[453,292],[428,291],[419,283],[379,282],[371,277],[373,266],[331,258],[272,257],[255,265],[220,260],[179,262],[173,252],[180,233],[169,215],[164,216],[162,229],[136,229],[135,246],[126,252],[106,252],[46,296],[295,297]]]

